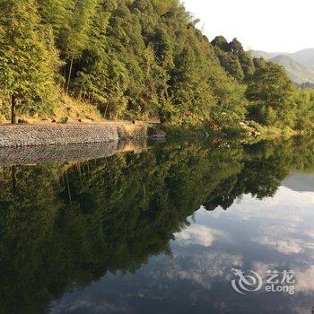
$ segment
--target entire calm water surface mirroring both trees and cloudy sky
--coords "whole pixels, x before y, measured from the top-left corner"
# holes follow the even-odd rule
[[[310,313],[313,147],[163,144],[2,168],[0,311]],[[297,293],[242,296],[231,267],[293,269]]]

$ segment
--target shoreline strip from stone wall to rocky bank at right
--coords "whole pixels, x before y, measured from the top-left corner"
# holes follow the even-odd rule
[[[239,129],[240,130],[240,129]],[[150,125],[144,121],[101,121],[101,122],[70,122],[35,123],[35,124],[3,124],[0,125],[0,149],[19,147],[65,146],[72,144],[109,144],[112,142],[143,142],[148,138],[224,138],[238,139],[242,142],[258,142],[274,140],[296,135],[306,135],[290,128],[275,127],[242,127],[238,134],[215,131],[182,130],[170,126]],[[169,136],[168,136],[169,135]]]

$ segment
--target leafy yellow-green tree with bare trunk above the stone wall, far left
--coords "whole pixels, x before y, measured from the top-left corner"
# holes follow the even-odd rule
[[[39,112],[56,100],[59,63],[52,33],[39,24],[34,0],[3,0],[0,10],[0,93],[11,99],[11,122],[16,123],[17,103]]]

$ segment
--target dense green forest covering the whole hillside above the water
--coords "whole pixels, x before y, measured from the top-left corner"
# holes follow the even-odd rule
[[[237,39],[210,42],[179,0],[2,0],[0,11],[2,119],[74,101],[176,126],[313,126],[313,92]]]

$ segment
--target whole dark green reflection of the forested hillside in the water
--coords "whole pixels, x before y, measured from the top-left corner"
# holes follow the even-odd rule
[[[227,209],[243,194],[274,195],[292,169],[313,168],[312,147],[301,139],[233,148],[174,144],[1,169],[0,312],[42,312],[71,284],[135,271],[150,256],[170,253],[173,233],[200,205]]]

